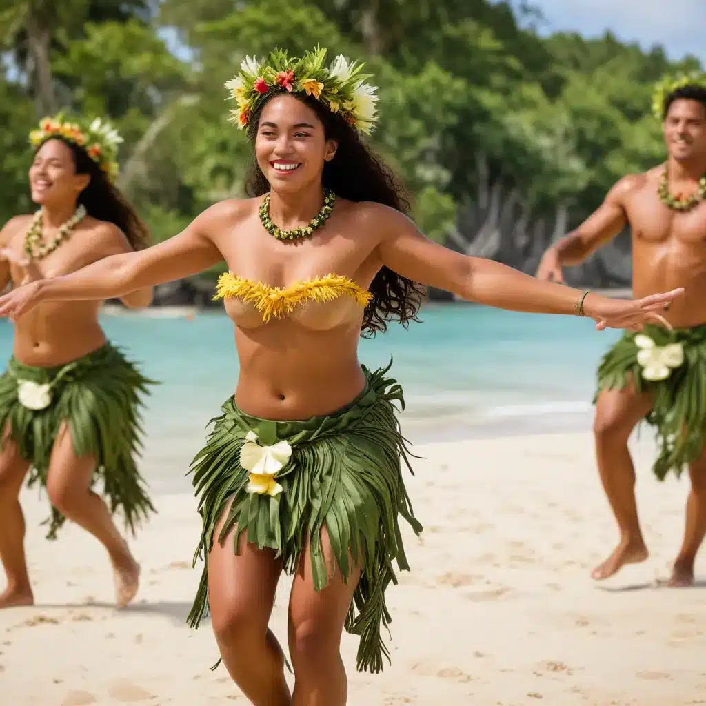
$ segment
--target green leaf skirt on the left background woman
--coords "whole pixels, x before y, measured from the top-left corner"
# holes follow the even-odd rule
[[[20,384],[27,381],[49,385],[47,407],[29,409],[20,402]],[[109,509],[122,510],[125,525],[134,534],[140,521],[155,511],[135,462],[143,433],[141,395],[152,384],[156,383],[110,344],[54,368],[23,365],[12,357],[0,376],[0,429],[9,426],[20,456],[30,462],[28,485],[47,487],[54,440],[66,421],[74,453],[95,457],[92,482],[102,479]],[[56,538],[64,519],[52,508],[44,522],[49,525],[47,539]]]

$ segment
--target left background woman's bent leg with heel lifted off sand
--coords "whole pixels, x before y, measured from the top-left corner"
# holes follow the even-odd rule
[[[93,457],[76,456],[68,425],[62,424],[49,460],[49,500],[59,512],[90,532],[107,549],[115,574],[116,602],[122,608],[137,593],[140,566],[118,532],[107,505],[90,490],[94,469]]]

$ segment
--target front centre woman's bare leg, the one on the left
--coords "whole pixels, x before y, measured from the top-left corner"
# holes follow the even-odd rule
[[[233,532],[222,546],[215,542],[208,556],[213,632],[223,664],[254,706],[289,706],[285,656],[268,629],[282,562],[273,551],[247,544],[245,534],[239,542],[239,556],[234,552]]]

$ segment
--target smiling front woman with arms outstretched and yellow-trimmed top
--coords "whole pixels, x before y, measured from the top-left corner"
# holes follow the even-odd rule
[[[342,630],[360,636],[358,669],[380,671],[393,562],[409,568],[398,518],[415,532],[395,418],[402,390],[357,359],[361,330],[416,317],[414,281],[516,311],[592,316],[639,328],[680,291],[615,301],[540,282],[426,239],[389,169],[361,132],[375,119],[361,65],[325,50],[246,59],[227,84],[234,121],[254,143],[253,198],[213,205],[176,237],[32,282],[0,298],[0,316],[41,302],[100,299],[193,275],[225,258],[217,296],[235,324],[237,390],[193,461],[203,516],[201,586],[220,654],[257,706],[340,706]],[[297,421],[292,421],[297,420]],[[282,570],[289,600],[285,657],[268,630]]]

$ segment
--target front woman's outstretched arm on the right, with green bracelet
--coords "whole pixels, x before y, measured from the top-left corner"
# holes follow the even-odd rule
[[[381,229],[381,262],[391,270],[424,285],[446,289],[486,306],[530,313],[577,314],[583,292],[525,275],[501,263],[451,251],[424,237],[412,221],[395,210],[376,208]],[[638,301],[609,299],[590,293],[583,311],[598,328],[630,328],[646,321],[664,322],[655,313],[683,289]]]

